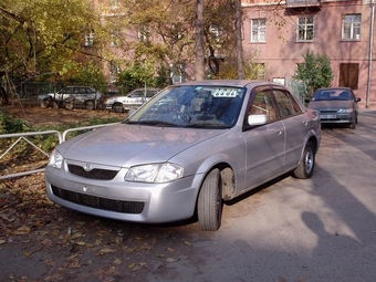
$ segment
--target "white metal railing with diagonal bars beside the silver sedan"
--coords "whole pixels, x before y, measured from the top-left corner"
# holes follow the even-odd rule
[[[59,139],[59,144],[61,144],[61,143],[65,142],[67,139],[69,134],[73,133],[73,132],[87,132],[87,130],[92,130],[92,129],[95,129],[95,128],[100,128],[100,127],[108,126],[108,125],[114,125],[114,124],[117,124],[117,123],[70,128],[70,129],[66,129],[63,133],[60,133],[58,130],[45,130],[45,132],[3,134],[3,135],[0,135],[0,139],[14,139],[14,138],[17,138],[17,139],[11,142],[8,149],[6,149],[0,155],[0,161],[6,157],[6,155],[10,154],[10,152],[12,152],[17,147],[17,145],[19,145],[21,142],[25,142],[27,144],[32,146],[38,152],[40,152],[42,155],[44,155],[45,158],[48,159],[50,157],[51,152],[45,152],[44,149],[42,149],[41,146],[38,146],[33,140],[31,140],[30,137],[40,136],[40,135],[56,135],[56,137]],[[32,175],[32,174],[36,174],[36,173],[43,173],[44,169],[45,168],[29,169],[29,170],[21,171],[21,173],[0,175],[0,180],[27,176],[27,175]]]

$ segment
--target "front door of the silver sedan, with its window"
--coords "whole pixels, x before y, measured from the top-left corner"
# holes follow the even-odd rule
[[[253,98],[252,98],[253,97]],[[283,168],[284,127],[276,115],[270,87],[257,88],[247,105],[243,136],[246,142],[246,187],[274,178]],[[248,115],[268,115],[268,124],[249,127]]]

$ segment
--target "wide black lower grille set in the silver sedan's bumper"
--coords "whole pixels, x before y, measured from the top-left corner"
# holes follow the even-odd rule
[[[82,206],[108,210],[108,211],[116,211],[123,213],[142,213],[145,207],[145,202],[142,201],[122,201],[122,200],[112,200],[101,197],[95,197],[91,195],[85,195],[81,192],[74,192],[70,190],[65,190],[59,188],[56,186],[51,186],[52,192],[66,201],[71,201],[74,203],[79,203]]]

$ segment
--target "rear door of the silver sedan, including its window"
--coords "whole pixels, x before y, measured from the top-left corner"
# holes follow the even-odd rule
[[[284,125],[284,166],[289,169],[295,167],[301,158],[304,140],[309,132],[309,117],[304,114],[296,98],[286,90],[273,88],[273,94]]]

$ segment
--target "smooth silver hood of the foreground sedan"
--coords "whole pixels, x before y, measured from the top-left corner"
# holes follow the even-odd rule
[[[128,167],[167,161],[227,130],[117,124],[69,139],[58,150],[66,159]]]

